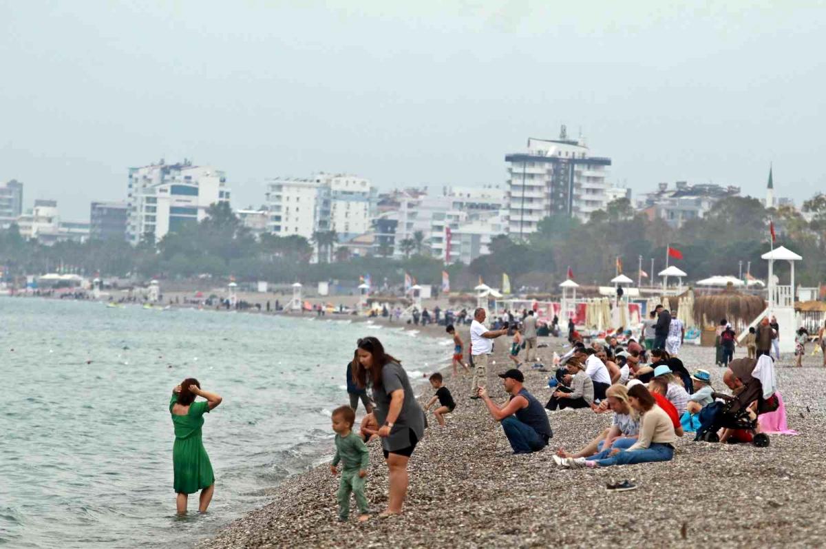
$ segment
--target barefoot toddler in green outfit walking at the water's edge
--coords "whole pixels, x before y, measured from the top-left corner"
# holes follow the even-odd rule
[[[358,521],[369,518],[367,497],[364,495],[364,477],[367,476],[369,451],[361,437],[353,432],[356,413],[349,406],[340,406],[333,410],[333,431],[335,431],[335,456],[330,470],[337,475],[336,465],[344,461],[341,470],[341,484],[339,485],[339,521],[344,522],[350,513],[350,493],[352,492],[358,504]]]

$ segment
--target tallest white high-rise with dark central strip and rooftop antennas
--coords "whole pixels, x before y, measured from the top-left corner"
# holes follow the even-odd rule
[[[554,213],[587,221],[609,202],[610,158],[591,156],[582,138],[567,138],[564,126],[558,140],[529,137],[527,150],[506,155],[505,161],[511,235],[535,232]]]

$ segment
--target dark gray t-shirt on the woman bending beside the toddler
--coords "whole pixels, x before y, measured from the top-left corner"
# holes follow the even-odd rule
[[[407,372],[400,364],[396,362],[388,362],[382,368],[382,386],[378,389],[373,388],[373,401],[376,403],[376,408],[373,412],[376,415],[376,421],[379,427],[384,425],[387,421],[387,412],[390,410],[390,394],[398,389],[403,389],[405,392],[405,400],[401,405],[401,412],[393,427],[390,430],[390,436],[382,438],[382,446],[387,451],[402,450],[411,446],[410,432],[415,432],[418,440],[425,435],[425,427],[427,427],[427,419],[425,412],[415,401],[415,394],[411,387],[411,382],[407,378]]]

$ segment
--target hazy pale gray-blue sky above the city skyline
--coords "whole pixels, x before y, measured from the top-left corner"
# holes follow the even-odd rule
[[[826,2],[0,2],[0,180],[88,219],[127,168],[504,187],[529,136],[582,134],[657,183],[826,190]]]

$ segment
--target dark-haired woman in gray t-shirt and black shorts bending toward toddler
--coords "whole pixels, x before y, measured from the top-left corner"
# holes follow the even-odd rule
[[[376,408],[362,421],[362,431],[382,438],[390,480],[387,510],[382,515],[401,513],[407,494],[407,461],[425,434],[425,413],[415,400],[411,382],[399,361],[384,352],[375,337],[358,340],[358,360],[354,378],[359,387],[373,389]],[[373,416],[372,418],[370,416]],[[378,427],[378,429],[370,426]]]

